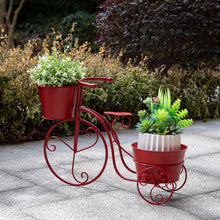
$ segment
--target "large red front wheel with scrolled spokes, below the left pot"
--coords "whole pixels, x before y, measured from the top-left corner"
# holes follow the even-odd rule
[[[83,127],[87,127],[85,129],[85,136],[83,136],[83,139],[86,139],[86,141],[83,143],[80,142],[80,136],[74,136],[77,140],[79,139],[77,146],[72,146],[69,143],[72,138],[52,136],[53,131],[65,122],[70,122],[73,128],[75,127],[75,119],[63,120],[54,124],[46,134],[44,140],[46,163],[51,172],[66,184],[72,186],[90,184],[98,179],[105,170],[108,159],[106,141],[101,131],[91,122],[84,119],[79,119],[80,124],[84,124],[85,126]],[[73,140],[71,142],[74,143]],[[87,164],[85,157],[90,157],[90,152],[93,154],[96,152],[94,148],[97,143],[104,146],[105,158],[98,168],[97,166],[94,168]]]

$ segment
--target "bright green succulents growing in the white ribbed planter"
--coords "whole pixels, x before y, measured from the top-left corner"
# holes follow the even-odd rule
[[[140,122],[136,127],[139,132],[153,134],[181,134],[183,128],[193,123],[192,119],[184,119],[188,110],[180,109],[180,99],[171,105],[170,90],[163,92],[160,88],[158,97],[147,98],[143,101],[150,109],[150,114],[146,110],[139,111]]]

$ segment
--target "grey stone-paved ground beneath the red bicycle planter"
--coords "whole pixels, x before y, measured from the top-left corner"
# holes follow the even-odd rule
[[[137,132],[123,132],[119,132],[122,143],[131,152],[131,142],[137,140]],[[138,194],[136,182],[125,181],[116,174],[109,145],[104,173],[95,182],[81,187],[67,185],[52,174],[44,160],[43,141],[1,146],[0,220],[220,219],[219,132],[219,119],[207,124],[196,122],[186,129],[182,140],[188,146],[185,158],[188,179],[162,206],[145,202]],[[72,144],[72,138],[65,141]],[[57,143],[57,150],[49,157],[51,165],[65,180],[73,181],[72,151],[60,141]],[[88,146],[86,140],[82,143]],[[104,153],[102,144],[78,153],[77,178],[84,171],[94,178],[102,168]],[[125,160],[134,169],[133,159],[125,156]],[[125,178],[136,179],[120,163],[118,152],[116,163]]]

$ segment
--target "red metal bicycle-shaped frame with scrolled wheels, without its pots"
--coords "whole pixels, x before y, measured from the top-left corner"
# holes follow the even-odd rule
[[[187,178],[187,175],[186,175],[186,169],[183,165],[183,171],[185,172],[185,181],[184,183],[182,184],[181,187],[179,187],[177,189],[177,186],[174,185],[176,183],[173,183],[171,177],[169,176],[169,174],[165,171],[165,170],[162,170],[156,166],[152,166],[152,165],[147,165],[147,168],[142,172],[142,174],[137,178],[134,178],[134,179],[130,179],[130,178],[127,178],[125,177],[124,175],[122,175],[122,173],[119,171],[118,167],[117,167],[117,163],[116,163],[116,157],[115,157],[115,150],[114,150],[114,143],[118,146],[118,150],[119,150],[119,155],[120,155],[120,159],[121,159],[121,162],[124,166],[124,168],[126,168],[129,172],[133,173],[133,174],[136,174],[136,171],[132,170],[125,162],[124,160],[124,157],[123,157],[123,153],[125,153],[126,155],[128,155],[132,160],[134,158],[134,156],[132,154],[130,154],[127,150],[125,150],[121,144],[120,144],[120,141],[119,141],[119,138],[117,136],[117,133],[116,131],[114,130],[113,128],[113,123],[114,121],[118,118],[118,117],[125,117],[127,120],[128,120],[128,124],[125,125],[124,124],[124,121],[121,122],[121,125],[122,127],[124,128],[128,128],[130,126],[130,118],[129,116],[131,116],[131,113],[129,112],[104,112],[105,114],[108,114],[108,115],[113,115],[114,118],[112,119],[111,122],[109,122],[105,117],[103,117],[101,114],[99,114],[98,112],[92,110],[92,109],[89,109],[87,108],[86,106],[83,106],[82,105],[82,99],[83,99],[83,87],[84,86],[87,86],[87,87],[91,87],[91,88],[96,88],[96,84],[91,84],[91,83],[87,83],[85,81],[90,81],[90,80],[101,80],[101,81],[112,81],[112,78],[106,78],[106,77],[88,77],[88,78],[84,78],[84,79],[81,79],[78,81],[78,95],[77,95],[77,104],[76,104],[76,111],[75,111],[75,117],[74,118],[69,118],[69,119],[64,119],[64,120],[61,120],[61,121],[58,121],[57,123],[55,123],[50,129],[49,131],[47,132],[46,134],[46,137],[45,137],[45,141],[44,141],[44,157],[45,157],[45,160],[46,160],[46,163],[49,167],[49,169],[51,170],[51,172],[58,178],[60,179],[61,181],[63,181],[64,183],[66,184],[69,184],[69,185],[72,185],[72,186],[82,186],[82,185],[87,185],[87,184],[90,184],[92,182],[94,182],[95,180],[97,180],[101,175],[102,173],[104,172],[105,170],[105,167],[106,167],[106,164],[107,164],[107,160],[108,160],[108,146],[107,146],[107,142],[102,134],[102,132],[91,122],[81,118],[81,113],[82,112],[86,112],[88,114],[90,114],[91,116],[95,117],[98,122],[102,125],[102,128],[104,129],[104,131],[106,132],[107,134],[107,138],[108,138],[108,141],[109,141],[109,144],[110,144],[110,149],[111,149],[111,156],[112,156],[112,163],[113,163],[113,167],[114,167],[114,170],[116,172],[116,174],[118,176],[120,176],[122,179],[126,180],[126,181],[132,181],[132,182],[136,182],[137,183],[137,188],[138,188],[138,192],[139,194],[141,195],[141,197],[151,203],[151,204],[163,204],[165,202],[167,202],[174,191],[180,189],[184,184],[185,184],[185,181],[186,181],[186,178]],[[75,122],[75,131],[74,131],[74,140],[73,140],[73,147],[71,147],[69,144],[67,144],[62,138],[60,137],[57,137],[57,136],[50,136],[51,132],[58,126],[60,125],[61,123],[63,122],[67,122],[67,121],[73,121]],[[84,124],[87,124],[88,125],[88,128],[85,130],[85,134],[86,136],[90,136],[91,133],[89,133],[89,131],[93,131],[95,134],[96,134],[96,140],[94,141],[93,144],[91,144],[90,146],[87,146],[87,147],[84,147],[82,149],[78,149],[78,139],[79,139],[79,133],[80,133],[80,123],[84,123]],[[98,174],[93,177],[92,179],[90,179],[89,177],[89,174],[85,171],[81,172],[81,179],[78,179],[75,175],[75,159],[76,159],[76,154],[77,153],[80,153],[82,151],[85,151],[87,149],[90,149],[92,147],[94,147],[98,141],[101,139],[101,141],[103,142],[103,146],[104,146],[104,149],[105,149],[105,157],[104,157],[104,162],[103,162],[103,166],[101,168],[101,170],[98,172]],[[69,180],[66,180],[64,179],[63,177],[61,177],[60,175],[57,174],[57,172],[55,172],[55,170],[53,169],[52,165],[50,164],[50,161],[48,159],[48,155],[47,155],[47,152],[55,152],[56,151],[56,145],[55,144],[50,144],[49,145],[49,142],[53,139],[57,139],[59,141],[61,141],[63,144],[65,144],[73,153],[73,156],[72,156],[72,177],[73,177],[73,181],[69,181]],[[146,165],[146,164],[145,164]],[[151,182],[154,181],[154,177],[151,175],[151,169],[158,169],[162,172],[162,174],[164,176],[166,176],[166,178],[169,180],[167,181],[167,183],[165,184],[165,186],[161,186],[161,184],[157,184],[156,182],[153,184],[153,187],[150,191],[150,200],[149,201],[148,199],[146,199],[141,190],[140,190],[140,186],[145,186],[147,185],[147,183],[143,182],[142,181],[142,177],[143,176],[148,176],[151,178]],[[168,185],[171,185],[171,188],[169,188]],[[155,188],[159,188],[159,189],[162,189],[163,191],[166,191],[166,192],[169,192],[170,195],[167,199],[164,199],[163,196],[161,194],[157,194],[156,195],[156,198],[157,197],[160,197],[160,201],[156,201],[153,196],[152,196],[152,191],[155,189]]]

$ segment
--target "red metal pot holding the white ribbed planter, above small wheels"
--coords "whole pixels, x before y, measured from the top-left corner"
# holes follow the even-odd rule
[[[180,150],[165,152],[139,149],[137,148],[137,142],[132,143],[132,147],[137,177],[140,181],[150,184],[166,183],[168,181],[166,172],[173,182],[179,180],[187,146],[181,144]],[[150,173],[143,175],[146,168],[151,168],[149,169]],[[163,173],[163,170],[166,172]]]

